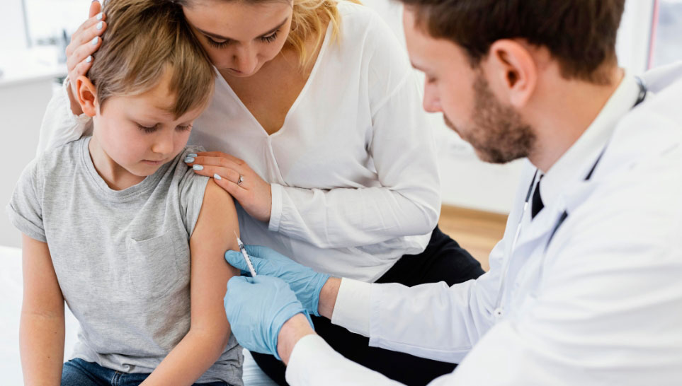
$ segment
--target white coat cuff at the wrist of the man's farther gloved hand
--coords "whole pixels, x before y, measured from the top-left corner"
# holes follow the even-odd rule
[[[372,284],[353,279],[341,279],[331,322],[351,332],[370,336],[370,293]]]

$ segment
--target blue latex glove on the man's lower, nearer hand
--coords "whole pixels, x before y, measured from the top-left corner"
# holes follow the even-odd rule
[[[227,282],[225,315],[232,333],[249,351],[277,353],[277,337],[284,322],[302,313],[310,315],[284,281],[270,276],[234,276]],[[314,327],[313,327],[314,328]]]

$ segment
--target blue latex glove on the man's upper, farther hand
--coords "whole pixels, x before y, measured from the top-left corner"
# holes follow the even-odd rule
[[[256,275],[273,276],[286,281],[308,313],[319,316],[317,311],[319,291],[322,291],[322,286],[329,279],[328,274],[319,274],[312,268],[298,264],[268,247],[246,245],[246,252],[251,257]],[[241,252],[227,251],[225,252],[225,259],[232,267],[241,269],[243,274],[249,272],[249,267],[246,266]]]

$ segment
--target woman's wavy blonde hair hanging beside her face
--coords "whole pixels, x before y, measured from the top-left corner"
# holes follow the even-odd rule
[[[190,6],[192,0],[171,0],[182,6]],[[229,0],[226,0],[229,1]],[[265,3],[280,0],[232,0],[244,3]],[[288,0],[285,0],[288,1]],[[358,0],[348,0],[360,4]],[[305,42],[315,38],[315,47],[324,40],[324,25],[331,23],[331,37],[336,39],[341,32],[341,15],[336,7],[338,0],[293,0],[292,30],[287,37],[287,44],[298,53],[301,66],[307,66],[311,53],[305,49]]]

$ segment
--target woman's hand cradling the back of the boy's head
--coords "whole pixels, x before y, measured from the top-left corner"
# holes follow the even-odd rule
[[[92,54],[97,51],[102,44],[101,35],[106,30],[106,15],[101,13],[102,5],[99,1],[90,4],[90,18],[86,20],[71,35],[71,42],[67,46],[67,70],[69,71],[69,100],[71,110],[75,115],[81,115],[83,110],[75,98],[78,94],[76,90],[76,79],[87,74],[92,66]]]

